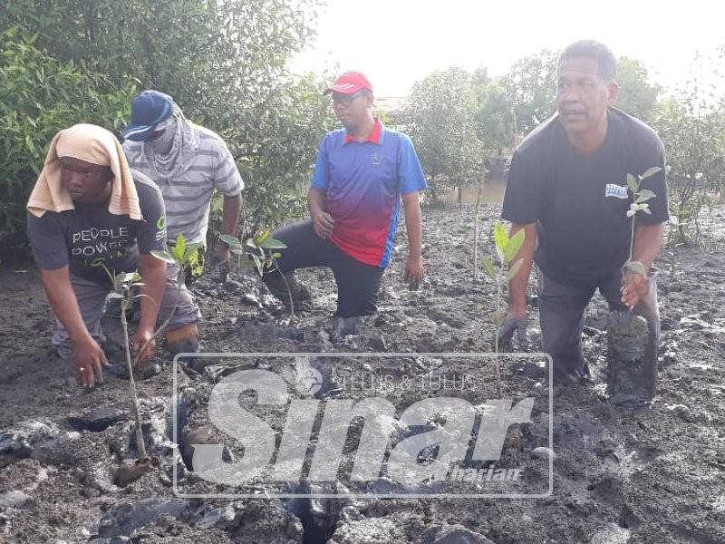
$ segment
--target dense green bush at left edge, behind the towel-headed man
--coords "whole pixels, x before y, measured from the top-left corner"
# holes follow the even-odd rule
[[[40,51],[20,27],[0,33],[0,247],[22,247],[25,204],[48,144],[78,122],[110,130],[128,118],[135,88],[109,83],[81,65]]]

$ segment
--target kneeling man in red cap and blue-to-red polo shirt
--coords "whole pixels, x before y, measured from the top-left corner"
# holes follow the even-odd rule
[[[333,86],[333,110],[343,128],[320,144],[308,192],[311,219],[274,234],[285,242],[278,264],[292,280],[295,268],[331,267],[337,282],[338,317],[375,312],[382,273],[391,260],[401,202],[408,233],[406,279],[423,278],[420,255],[420,190],[425,176],[411,139],[382,125],[372,113],[372,84],[359,72],[340,75]],[[286,287],[277,272],[265,281],[281,300]],[[294,280],[294,298],[309,299]]]

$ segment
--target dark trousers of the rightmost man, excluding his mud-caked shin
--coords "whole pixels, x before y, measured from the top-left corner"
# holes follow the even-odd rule
[[[657,272],[650,270],[650,289],[643,300],[634,307],[633,313],[643,316],[649,326],[649,337],[645,358],[654,361],[653,377],[656,380],[656,361],[660,346],[660,313],[657,308]],[[604,296],[610,311],[623,310],[620,287],[622,272],[616,272],[597,285],[575,286],[558,283],[539,270],[538,307],[541,323],[541,336],[544,351],[551,355],[556,374],[586,374],[588,368],[582,355],[582,329],[584,328],[585,308],[594,296],[594,291]]]

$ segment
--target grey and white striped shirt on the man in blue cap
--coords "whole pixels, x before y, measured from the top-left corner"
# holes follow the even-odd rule
[[[142,141],[125,141],[123,151],[132,169],[153,180],[161,190],[166,207],[168,239],[183,234],[188,243],[206,243],[209,209],[214,190],[234,197],[244,189],[227,144],[214,131],[188,121],[193,139],[179,151],[178,160],[187,167],[173,179],[161,177],[146,158]]]

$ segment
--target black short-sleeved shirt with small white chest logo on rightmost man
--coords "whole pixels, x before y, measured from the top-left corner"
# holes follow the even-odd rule
[[[595,285],[629,257],[627,174],[641,175],[655,166],[662,170],[641,186],[656,195],[648,201],[652,215],[638,212],[640,224],[668,219],[664,147],[657,134],[610,108],[604,143],[584,155],[568,141],[555,115],[514,152],[501,216],[514,223],[536,222],[535,260],[547,276]]]

